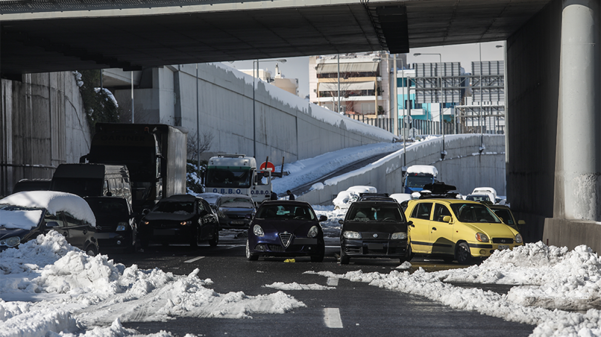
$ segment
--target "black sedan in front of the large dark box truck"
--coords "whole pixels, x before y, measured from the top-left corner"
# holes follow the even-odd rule
[[[175,194],[161,199],[150,211],[144,210],[138,234],[142,247],[150,242],[188,243],[198,246],[219,242],[219,222],[209,203],[191,194]]]

